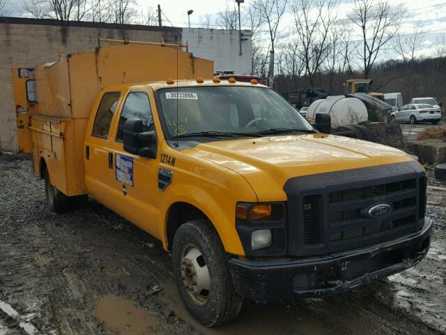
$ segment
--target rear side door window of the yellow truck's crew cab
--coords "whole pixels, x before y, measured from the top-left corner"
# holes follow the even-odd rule
[[[102,96],[91,135],[102,138],[108,137],[119,96],[121,96],[119,92],[109,92]]]

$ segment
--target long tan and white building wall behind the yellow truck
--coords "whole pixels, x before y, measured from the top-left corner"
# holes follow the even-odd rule
[[[215,61],[215,70],[251,71],[251,41],[243,42],[243,55],[239,56],[236,31],[0,17],[0,148],[17,149],[11,68],[33,68],[56,61],[60,53],[91,50],[98,38],[188,41],[194,56]]]

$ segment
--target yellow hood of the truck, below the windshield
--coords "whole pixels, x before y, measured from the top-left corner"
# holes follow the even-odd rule
[[[259,201],[286,200],[283,186],[291,177],[413,159],[392,147],[320,133],[208,142],[190,154],[241,174]]]

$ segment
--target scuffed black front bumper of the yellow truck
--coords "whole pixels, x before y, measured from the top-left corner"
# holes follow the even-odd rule
[[[320,297],[413,267],[429,250],[431,232],[426,217],[422,230],[367,248],[312,258],[233,258],[229,268],[236,292],[255,301]]]

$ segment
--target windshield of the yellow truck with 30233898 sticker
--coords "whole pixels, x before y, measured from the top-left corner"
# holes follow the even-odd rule
[[[166,135],[170,138],[203,132],[207,135],[263,135],[258,132],[273,129],[282,132],[314,132],[305,118],[272,89],[180,87],[177,94],[177,88],[173,87],[158,90],[157,98],[167,129]]]

